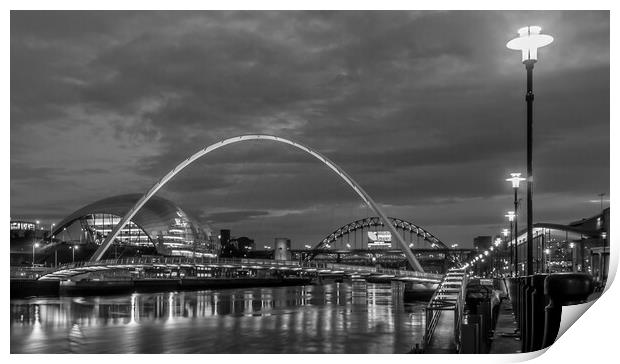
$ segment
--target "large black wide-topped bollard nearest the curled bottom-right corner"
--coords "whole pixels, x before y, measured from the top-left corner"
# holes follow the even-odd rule
[[[562,306],[585,303],[594,291],[592,276],[586,273],[554,273],[545,278],[545,330],[543,348],[555,342],[562,320]]]

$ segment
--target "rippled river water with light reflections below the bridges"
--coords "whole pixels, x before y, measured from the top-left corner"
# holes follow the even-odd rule
[[[424,303],[390,285],[11,300],[11,353],[405,353]]]

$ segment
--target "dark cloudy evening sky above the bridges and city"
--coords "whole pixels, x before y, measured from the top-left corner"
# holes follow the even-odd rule
[[[56,222],[268,133],[471,246],[505,227],[504,179],[525,172],[525,70],[505,44],[528,24],[555,37],[534,69],[534,220],[591,216],[609,192],[608,12],[12,12],[11,218]],[[159,195],[259,244],[372,215],[270,142],[209,154]]]

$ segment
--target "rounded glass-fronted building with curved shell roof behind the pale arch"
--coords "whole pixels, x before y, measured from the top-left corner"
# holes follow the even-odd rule
[[[140,197],[140,194],[120,195],[86,205],[59,222],[48,236],[48,242],[100,245]],[[172,201],[157,196],[127,223],[114,246],[155,248],[162,255],[196,257],[215,256],[219,252],[219,241],[211,229],[200,226]]]

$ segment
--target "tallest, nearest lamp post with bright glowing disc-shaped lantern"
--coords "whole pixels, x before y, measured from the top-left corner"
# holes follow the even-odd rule
[[[527,71],[527,91],[525,102],[527,103],[527,275],[534,274],[533,266],[533,241],[532,241],[532,113],[534,104],[534,92],[532,91],[532,73],[534,63],[538,60],[538,48],[553,42],[553,37],[540,34],[541,27],[529,25],[519,29],[519,36],[506,44],[509,49],[521,51],[521,61]]]

